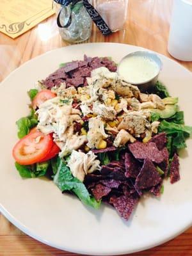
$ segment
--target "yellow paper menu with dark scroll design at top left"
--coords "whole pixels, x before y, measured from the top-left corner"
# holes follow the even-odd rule
[[[16,38],[52,14],[52,0],[0,0],[0,31]]]

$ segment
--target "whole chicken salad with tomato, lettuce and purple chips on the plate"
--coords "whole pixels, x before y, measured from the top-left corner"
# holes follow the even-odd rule
[[[101,202],[128,220],[145,193],[180,179],[184,125],[178,98],[159,81],[140,92],[111,58],[61,63],[29,90],[30,114],[17,121],[15,166],[23,178],[46,176],[95,209]]]

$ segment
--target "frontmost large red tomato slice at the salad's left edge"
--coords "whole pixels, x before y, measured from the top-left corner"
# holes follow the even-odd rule
[[[19,164],[35,164],[44,159],[53,145],[51,134],[40,131],[29,133],[13,147],[13,157]]]

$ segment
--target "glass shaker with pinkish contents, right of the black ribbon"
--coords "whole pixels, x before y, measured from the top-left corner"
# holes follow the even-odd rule
[[[124,27],[128,0],[95,0],[94,6],[112,32]]]

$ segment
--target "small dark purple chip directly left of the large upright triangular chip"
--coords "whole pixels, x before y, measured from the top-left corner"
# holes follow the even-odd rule
[[[136,178],[140,173],[140,164],[129,153],[125,153],[125,177]]]

